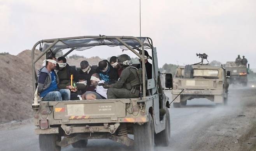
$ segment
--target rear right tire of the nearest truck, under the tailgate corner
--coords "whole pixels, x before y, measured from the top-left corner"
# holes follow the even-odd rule
[[[135,151],[154,151],[154,123],[151,114],[143,125],[133,125]]]

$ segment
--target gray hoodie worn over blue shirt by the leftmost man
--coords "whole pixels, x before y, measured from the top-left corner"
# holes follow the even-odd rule
[[[53,70],[56,76],[56,83],[59,84],[60,80],[56,72]],[[46,66],[38,71],[38,93],[40,94],[43,90],[46,90],[51,85],[51,73],[47,70]]]

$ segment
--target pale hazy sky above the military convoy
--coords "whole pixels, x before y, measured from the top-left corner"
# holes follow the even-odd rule
[[[49,38],[139,36],[139,25],[139,0],[0,0],[0,52],[17,55]],[[244,55],[256,68],[256,0],[141,0],[141,36],[153,39],[160,67],[200,62],[196,53],[206,53],[222,63]]]

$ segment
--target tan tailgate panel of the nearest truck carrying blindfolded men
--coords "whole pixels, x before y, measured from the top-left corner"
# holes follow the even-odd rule
[[[121,118],[126,116],[126,105],[121,101],[63,101],[55,104],[54,119]]]

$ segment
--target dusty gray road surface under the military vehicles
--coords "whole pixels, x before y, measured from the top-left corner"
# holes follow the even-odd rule
[[[167,95],[170,93],[167,92]],[[170,95],[169,95],[170,96]],[[256,142],[256,89],[230,89],[227,106],[205,99],[171,108],[171,142],[156,151],[247,151]],[[0,151],[38,151],[38,136],[30,120],[0,125]],[[63,151],[132,151],[110,140],[89,140],[88,148]]]

